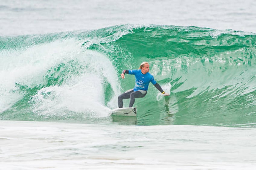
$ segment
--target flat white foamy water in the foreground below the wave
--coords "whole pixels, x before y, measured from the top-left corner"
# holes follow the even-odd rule
[[[0,124],[2,169],[231,170],[256,164],[255,127]]]

